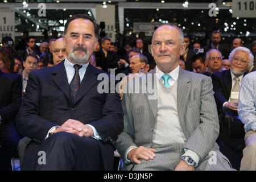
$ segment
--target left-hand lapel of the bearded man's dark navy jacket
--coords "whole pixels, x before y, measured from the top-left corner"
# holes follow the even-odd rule
[[[59,86],[59,88],[64,92],[69,102],[72,103],[64,61],[61,61],[61,63],[56,65],[56,67],[52,70],[52,73],[53,73],[53,81],[55,81],[57,86]]]

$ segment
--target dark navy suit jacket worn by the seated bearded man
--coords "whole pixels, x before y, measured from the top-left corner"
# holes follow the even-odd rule
[[[72,104],[64,61],[51,68],[30,72],[17,116],[18,131],[40,143],[51,127],[61,126],[68,119],[90,124],[102,138],[97,141],[104,167],[112,169],[114,148],[110,140],[123,129],[123,113],[118,94],[98,92],[101,80],[97,80],[97,76],[100,73],[104,72],[88,65],[77,99]],[[106,77],[110,78],[109,74]],[[35,144],[32,140],[26,152],[33,150]]]

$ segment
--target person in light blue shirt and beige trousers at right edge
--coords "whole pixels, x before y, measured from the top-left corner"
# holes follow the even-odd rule
[[[243,77],[238,100],[238,114],[245,124],[245,149],[241,171],[256,171],[256,72]]]

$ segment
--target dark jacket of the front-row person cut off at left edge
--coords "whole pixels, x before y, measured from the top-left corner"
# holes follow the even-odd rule
[[[0,115],[2,122],[13,122],[22,102],[20,76],[0,71]]]

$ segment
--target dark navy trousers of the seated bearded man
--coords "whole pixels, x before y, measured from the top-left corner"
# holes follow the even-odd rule
[[[22,170],[104,170],[98,141],[67,132],[26,148]]]

